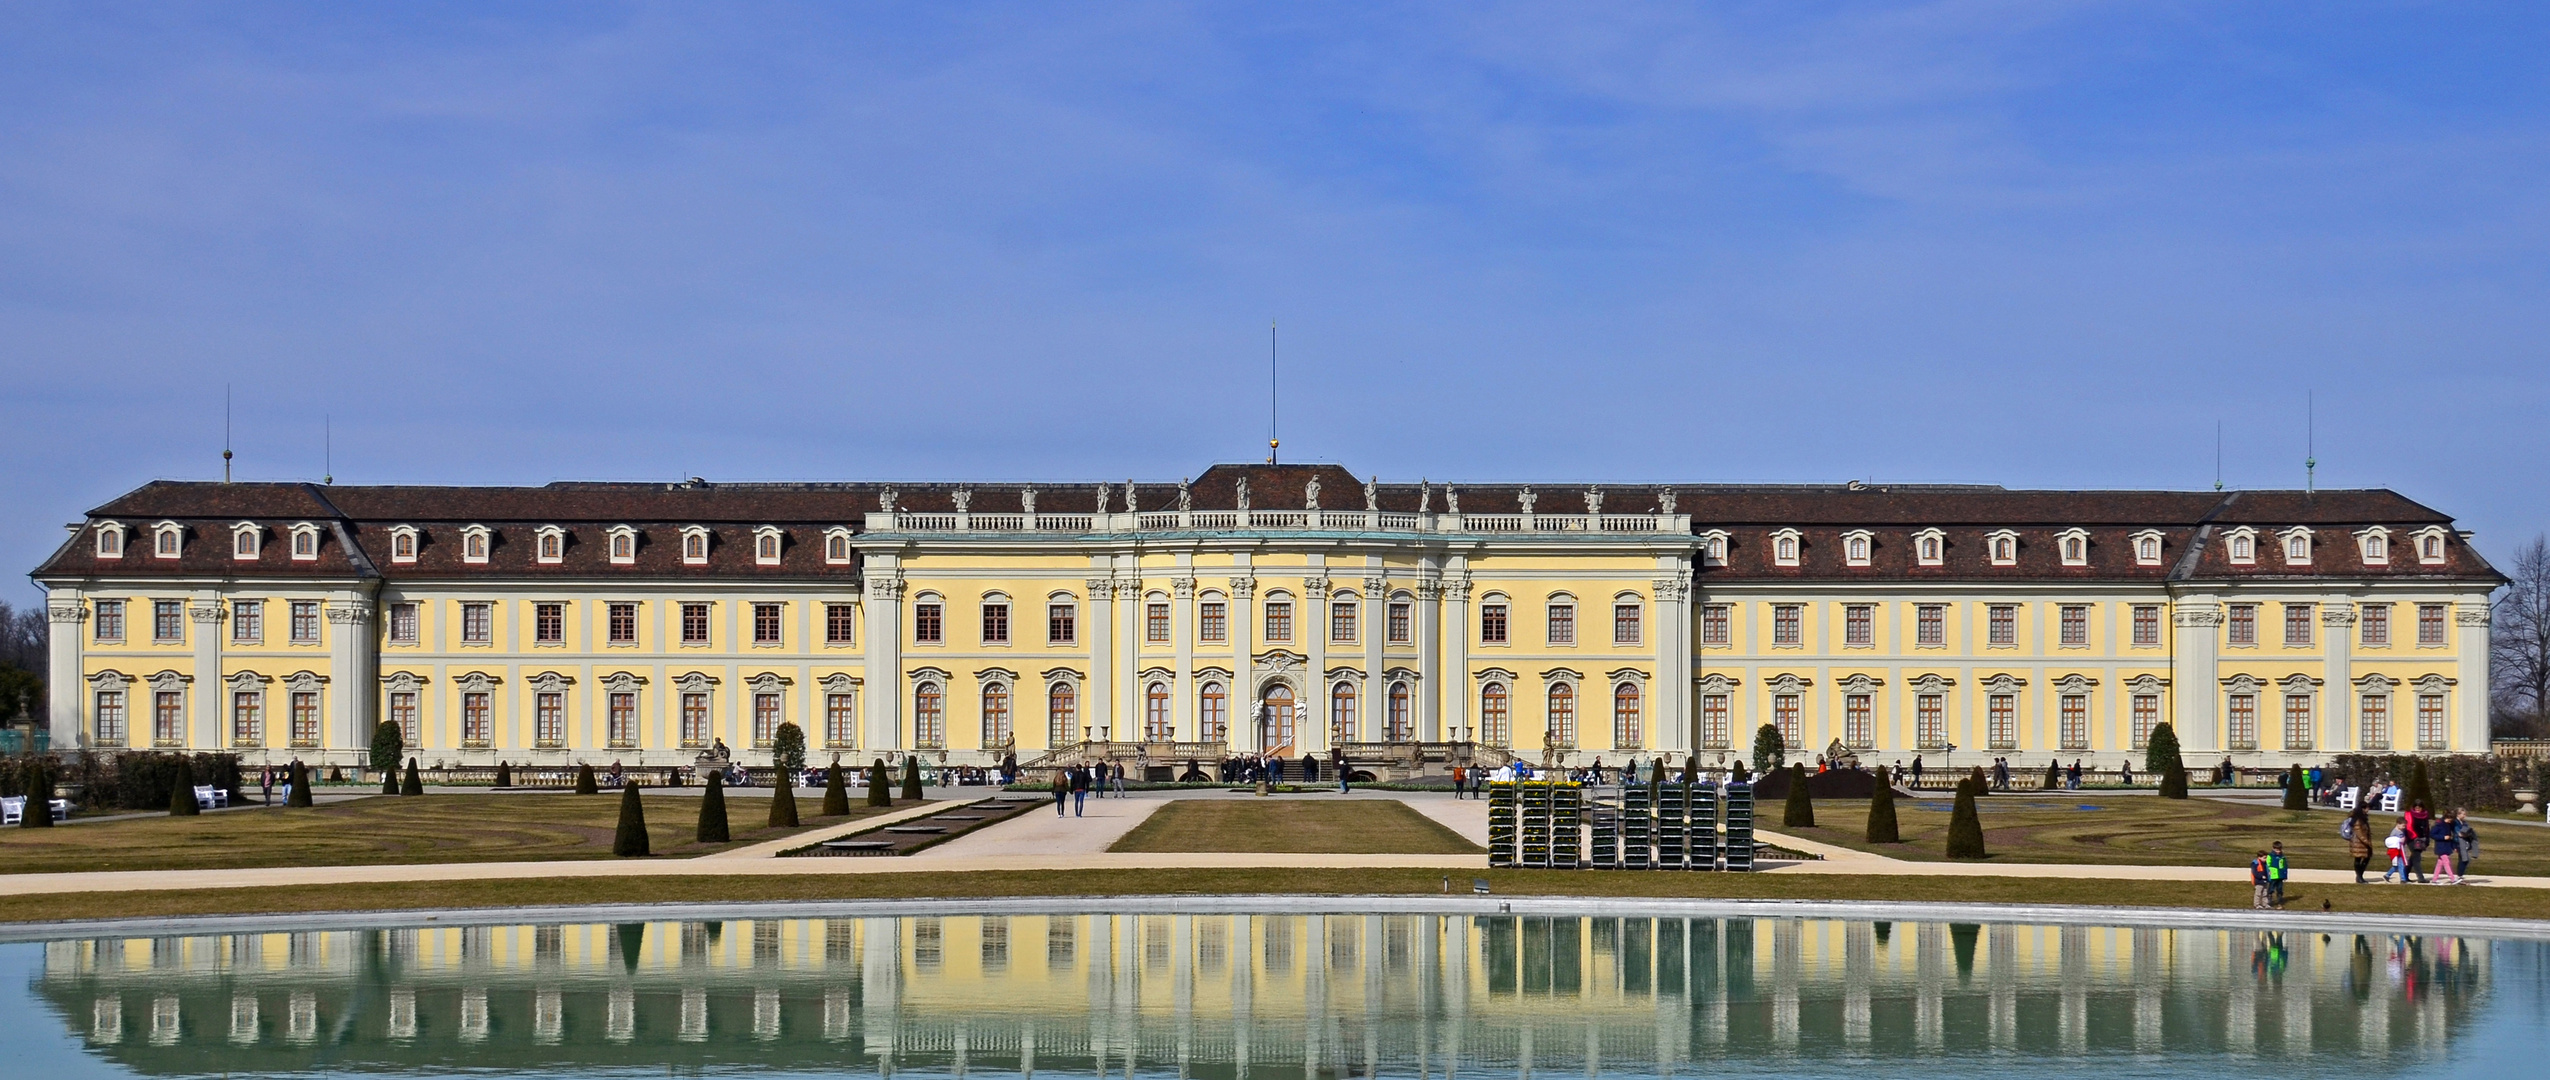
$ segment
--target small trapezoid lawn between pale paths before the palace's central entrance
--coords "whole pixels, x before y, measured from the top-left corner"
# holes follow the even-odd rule
[[[1461,838],[1400,800],[1209,802],[1176,800],[1107,851],[1298,851],[1344,856],[1476,856]]]

